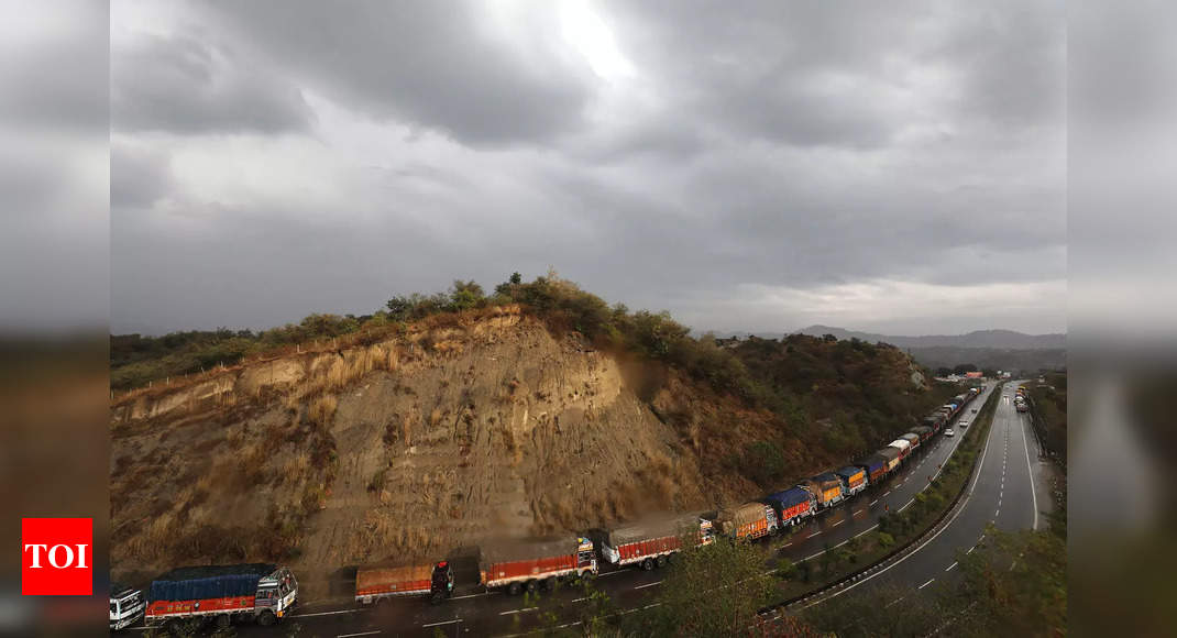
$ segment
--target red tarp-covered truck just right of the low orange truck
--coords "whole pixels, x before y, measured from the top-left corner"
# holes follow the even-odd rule
[[[551,589],[558,578],[596,574],[597,552],[592,540],[579,537],[504,539],[483,544],[478,567],[486,589],[518,594]]]

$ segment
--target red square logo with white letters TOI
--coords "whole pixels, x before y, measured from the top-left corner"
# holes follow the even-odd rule
[[[93,543],[88,518],[20,519],[20,593],[92,596]]]

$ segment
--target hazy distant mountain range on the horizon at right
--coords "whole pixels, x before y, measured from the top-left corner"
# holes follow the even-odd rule
[[[717,337],[759,337],[779,339],[784,334],[832,334],[838,339],[857,338],[863,341],[886,343],[911,352],[920,364],[930,367],[952,367],[975,364],[982,368],[1057,370],[1066,366],[1066,334],[1025,334],[1012,330],[978,330],[967,334],[930,334],[924,337],[899,337],[858,332],[833,326],[813,325],[789,333],[736,332]]]

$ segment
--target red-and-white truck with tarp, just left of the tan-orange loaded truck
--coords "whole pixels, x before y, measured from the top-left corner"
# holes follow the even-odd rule
[[[665,516],[603,532],[593,540],[606,563],[649,571],[683,551],[684,539],[690,545],[711,543],[711,521],[699,514]]]

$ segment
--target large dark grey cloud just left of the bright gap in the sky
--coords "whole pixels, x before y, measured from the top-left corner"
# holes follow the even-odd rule
[[[488,34],[483,2],[219,5],[219,24],[291,73],[379,118],[434,127],[467,144],[537,141],[581,125],[591,74],[551,57],[559,25],[544,4]]]

